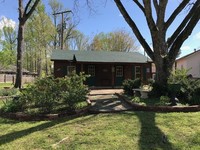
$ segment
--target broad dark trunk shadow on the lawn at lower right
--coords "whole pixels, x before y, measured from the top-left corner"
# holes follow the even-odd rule
[[[162,149],[172,150],[173,145],[169,142],[167,135],[165,135],[157,126],[155,122],[154,112],[136,112],[136,115],[141,123],[139,147],[144,149]]]

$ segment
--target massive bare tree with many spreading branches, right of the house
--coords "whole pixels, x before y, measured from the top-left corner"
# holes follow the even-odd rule
[[[124,5],[126,1],[114,1],[140,44],[155,63],[157,72],[156,82],[160,86],[166,85],[182,44],[190,36],[199,21],[200,0],[182,0],[168,18],[165,18],[168,0],[133,0],[133,5],[135,4],[145,16],[151,34],[152,48],[145,41],[145,37],[136,25],[136,21],[139,20],[133,20],[126,9]],[[188,11],[184,12],[183,20],[174,29],[174,32],[167,37],[166,33],[169,27],[186,7],[188,7]]]

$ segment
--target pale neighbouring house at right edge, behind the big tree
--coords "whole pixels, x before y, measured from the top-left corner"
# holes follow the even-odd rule
[[[193,78],[200,78],[200,50],[181,57],[176,60],[175,69],[189,69],[188,75]]]

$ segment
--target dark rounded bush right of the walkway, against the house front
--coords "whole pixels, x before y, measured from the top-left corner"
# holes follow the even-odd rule
[[[124,93],[127,95],[133,95],[133,89],[139,88],[141,85],[141,79],[136,78],[135,80],[127,79],[122,83]]]

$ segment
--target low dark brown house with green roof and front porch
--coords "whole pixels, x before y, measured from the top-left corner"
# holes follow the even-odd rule
[[[72,71],[85,72],[89,86],[121,86],[124,79],[152,77],[151,62],[138,52],[54,50],[54,76],[64,77]]]

